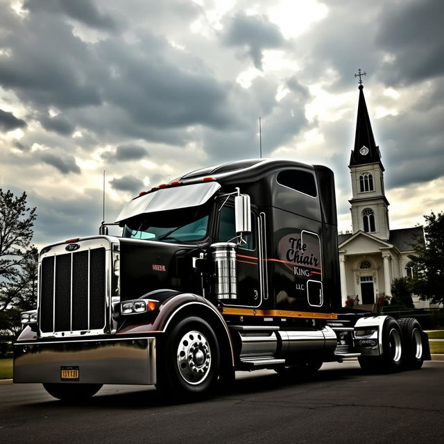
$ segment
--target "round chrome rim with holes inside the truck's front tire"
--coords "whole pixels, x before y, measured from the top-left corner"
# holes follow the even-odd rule
[[[211,351],[207,338],[196,330],[182,336],[178,345],[177,363],[180,376],[188,384],[196,385],[210,373]]]

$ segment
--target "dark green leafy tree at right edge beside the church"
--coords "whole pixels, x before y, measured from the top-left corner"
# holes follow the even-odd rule
[[[432,212],[424,216],[425,243],[417,239],[413,262],[413,291],[422,299],[444,302],[444,214]]]

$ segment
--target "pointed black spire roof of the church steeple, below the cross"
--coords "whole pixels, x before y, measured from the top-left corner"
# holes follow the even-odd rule
[[[376,146],[373,136],[372,125],[364,97],[364,86],[359,85],[358,115],[356,121],[355,148],[350,155],[350,167],[362,164],[379,162],[382,171],[384,167],[381,162],[379,146]]]

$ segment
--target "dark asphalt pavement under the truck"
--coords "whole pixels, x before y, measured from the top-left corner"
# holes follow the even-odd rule
[[[104,386],[88,402],[40,384],[0,385],[0,443],[444,443],[444,362],[366,375],[356,361],[309,379],[237,373],[230,391],[190,403],[152,387]]]

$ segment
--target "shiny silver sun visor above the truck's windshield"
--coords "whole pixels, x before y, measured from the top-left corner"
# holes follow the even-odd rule
[[[207,203],[220,188],[217,182],[202,182],[158,189],[130,200],[121,210],[116,223],[141,214],[199,207]]]

